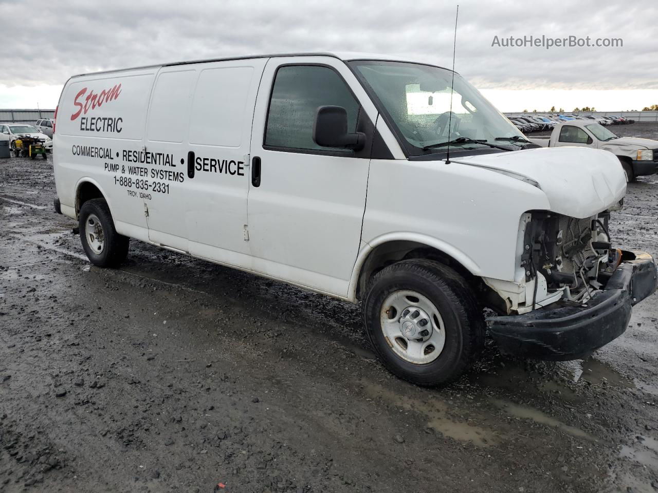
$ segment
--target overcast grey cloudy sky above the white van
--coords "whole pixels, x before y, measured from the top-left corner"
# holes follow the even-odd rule
[[[0,108],[54,108],[73,74],[175,60],[336,50],[451,66],[456,4],[0,0]],[[623,46],[492,47],[510,35]],[[641,110],[658,104],[658,2],[461,1],[455,68],[503,111]]]

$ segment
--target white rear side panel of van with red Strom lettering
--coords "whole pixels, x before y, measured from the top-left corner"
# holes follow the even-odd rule
[[[75,77],[59,101],[53,141],[55,187],[63,211],[75,216],[76,189],[89,181],[109,204],[116,229],[145,239],[143,203],[129,195],[126,152],[138,151],[157,68]]]

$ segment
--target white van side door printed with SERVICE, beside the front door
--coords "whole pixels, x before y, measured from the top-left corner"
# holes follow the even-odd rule
[[[253,108],[266,59],[199,66],[191,105],[190,253],[251,270],[247,195]]]

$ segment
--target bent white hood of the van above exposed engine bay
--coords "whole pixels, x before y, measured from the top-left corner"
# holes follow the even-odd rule
[[[614,154],[586,147],[525,149],[451,160],[503,172],[544,191],[550,210],[589,218],[615,206],[626,194],[626,177]]]

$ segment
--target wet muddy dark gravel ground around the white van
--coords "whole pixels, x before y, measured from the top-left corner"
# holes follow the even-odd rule
[[[0,160],[0,492],[658,490],[656,294],[587,360],[489,346],[428,390],[355,306],[136,241],[91,267],[53,195],[50,156]],[[657,214],[642,177],[616,241],[657,255]]]

